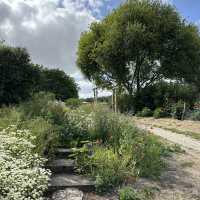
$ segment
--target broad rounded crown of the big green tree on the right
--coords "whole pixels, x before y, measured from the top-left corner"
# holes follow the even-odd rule
[[[82,33],[77,65],[97,85],[130,95],[160,79],[199,83],[199,32],[171,5],[129,0]]]

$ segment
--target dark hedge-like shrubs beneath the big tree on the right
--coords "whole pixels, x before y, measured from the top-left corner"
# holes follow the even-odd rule
[[[186,102],[188,108],[192,108],[198,99],[196,87],[182,83],[168,83],[159,81],[140,90],[138,94],[121,95],[118,105],[121,112],[137,113],[144,107],[151,110],[164,108],[167,114],[171,114],[171,107],[179,100]]]

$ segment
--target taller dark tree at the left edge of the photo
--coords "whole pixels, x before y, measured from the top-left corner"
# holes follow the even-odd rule
[[[0,45],[0,105],[26,100],[37,88],[40,70],[26,49]]]

